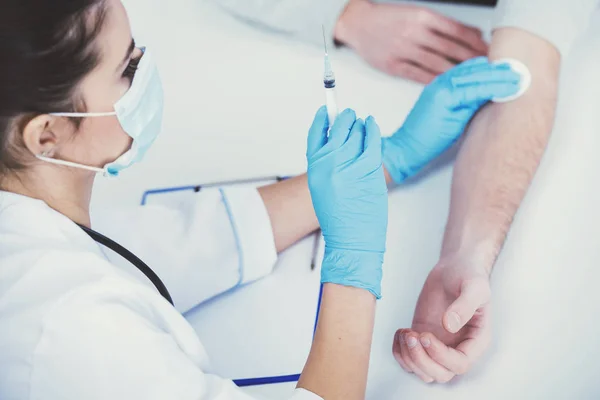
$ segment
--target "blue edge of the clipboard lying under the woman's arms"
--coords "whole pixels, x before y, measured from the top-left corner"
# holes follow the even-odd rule
[[[276,177],[266,177],[266,178],[259,178],[259,179],[247,179],[247,180],[211,183],[211,184],[207,184],[207,185],[193,185],[193,186],[187,185],[187,186],[175,186],[175,187],[170,187],[170,188],[149,189],[149,190],[146,190],[144,192],[144,194],[142,195],[142,200],[141,200],[140,204],[142,206],[146,205],[149,196],[161,194],[161,193],[184,192],[184,191],[188,191],[188,190],[191,190],[194,192],[199,192],[200,190],[202,190],[202,188],[205,188],[205,187],[226,186],[226,185],[233,185],[233,184],[239,184],[239,183],[252,183],[252,182],[267,181],[267,180],[276,180],[276,181],[280,182],[280,181],[283,181],[286,179],[289,179],[289,177],[276,176]],[[315,315],[315,324],[313,327],[313,338],[317,331],[317,323],[319,322],[319,312],[321,310],[322,297],[323,297],[323,284],[321,284],[321,286],[319,288],[319,299],[317,301],[317,311],[316,311],[316,315]],[[238,387],[247,387],[247,386],[273,385],[273,384],[277,384],[277,383],[298,382],[299,379],[300,379],[300,374],[293,374],[293,375],[265,376],[265,377],[259,377],[259,378],[233,379],[233,383],[235,383]]]

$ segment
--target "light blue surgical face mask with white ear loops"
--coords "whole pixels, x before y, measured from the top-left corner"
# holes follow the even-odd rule
[[[57,117],[75,118],[116,116],[123,130],[133,139],[131,148],[103,168],[57,160],[47,157],[45,154],[38,155],[37,158],[53,164],[102,172],[105,176],[116,176],[121,170],[144,157],[160,132],[164,99],[160,76],[152,59],[152,54],[146,49],[142,49],[142,51],[144,54],[133,78],[131,88],[115,104],[114,112],[50,114]]]

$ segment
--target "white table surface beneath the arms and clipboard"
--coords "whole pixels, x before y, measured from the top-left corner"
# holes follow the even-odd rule
[[[136,36],[156,51],[165,123],[143,164],[118,180],[98,181],[94,204],[139,202],[154,187],[304,171],[306,131],[324,96],[321,49],[245,26],[204,1],[126,4]],[[490,9],[433,7],[490,27]],[[369,399],[600,398],[598,22],[564,64],[555,132],[495,269],[492,349],[452,385],[421,384],[391,355],[393,334],[409,326],[437,260],[451,167],[391,195]],[[402,123],[421,90],[346,50],[333,62],[340,105],[371,113],[383,132]],[[248,391],[275,399],[293,387]]]

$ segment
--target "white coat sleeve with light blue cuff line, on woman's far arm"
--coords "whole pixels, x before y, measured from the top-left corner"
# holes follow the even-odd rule
[[[152,268],[182,313],[268,275],[277,261],[269,215],[254,188],[206,189],[176,206],[100,210],[93,217],[94,229]],[[114,253],[110,261],[132,270]]]

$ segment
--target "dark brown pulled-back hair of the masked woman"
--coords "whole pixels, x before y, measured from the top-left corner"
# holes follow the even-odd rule
[[[84,111],[77,87],[99,63],[105,14],[105,0],[1,1],[0,180],[26,167],[21,132],[33,118]]]

